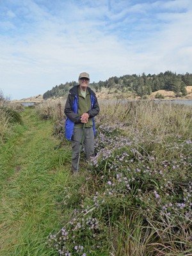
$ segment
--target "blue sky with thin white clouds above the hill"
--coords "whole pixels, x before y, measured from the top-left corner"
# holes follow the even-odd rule
[[[126,74],[191,73],[192,0],[0,0],[0,90],[13,99]]]

